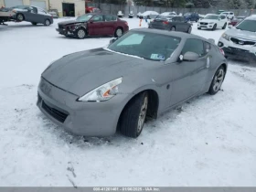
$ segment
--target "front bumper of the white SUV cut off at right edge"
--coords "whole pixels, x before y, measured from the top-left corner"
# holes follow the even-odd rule
[[[218,46],[224,50],[225,56],[230,59],[245,59],[256,61],[256,47],[235,44],[223,37],[219,38]]]

